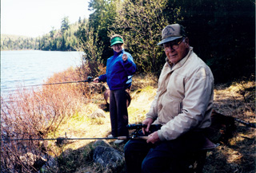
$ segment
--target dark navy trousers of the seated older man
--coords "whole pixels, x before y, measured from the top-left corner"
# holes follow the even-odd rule
[[[176,140],[147,144],[146,140],[130,140],[124,147],[129,173],[170,172],[172,163],[188,151],[197,151],[204,143],[201,132],[190,132]]]

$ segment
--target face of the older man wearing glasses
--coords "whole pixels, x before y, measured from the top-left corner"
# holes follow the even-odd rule
[[[183,57],[186,57],[186,54],[189,52],[189,39],[187,37],[182,37],[163,44],[163,47],[169,61],[176,64],[178,61],[182,60]]]

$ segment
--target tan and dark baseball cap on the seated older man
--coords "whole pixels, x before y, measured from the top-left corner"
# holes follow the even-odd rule
[[[180,26],[179,24],[166,26],[164,29],[162,29],[162,41],[160,41],[158,45],[162,45],[169,41],[174,41],[181,37],[186,37],[183,26]]]

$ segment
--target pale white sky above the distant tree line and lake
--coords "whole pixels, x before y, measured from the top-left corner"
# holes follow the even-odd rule
[[[1,0],[1,33],[38,37],[60,29],[62,18],[70,24],[89,18],[90,0]]]

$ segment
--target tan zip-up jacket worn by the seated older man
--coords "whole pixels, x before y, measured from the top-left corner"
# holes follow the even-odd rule
[[[146,117],[158,130],[160,140],[174,140],[190,130],[210,126],[214,100],[214,77],[210,68],[190,52],[173,68],[166,62],[158,81],[158,91]]]

